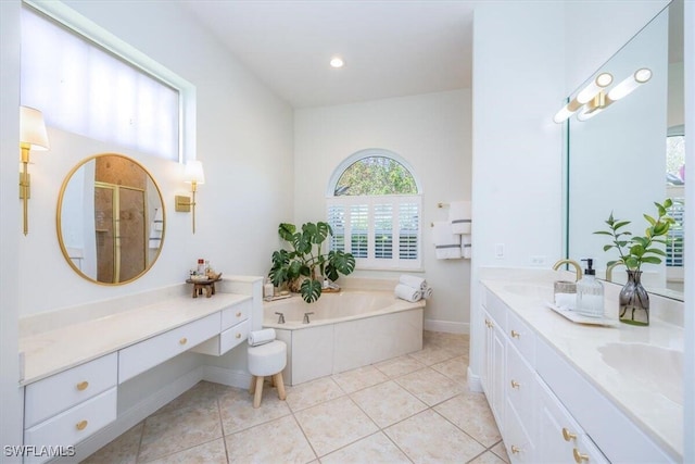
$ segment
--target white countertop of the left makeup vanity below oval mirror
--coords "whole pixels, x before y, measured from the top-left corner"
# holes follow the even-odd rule
[[[27,317],[21,322],[21,384],[31,384],[251,300],[249,294],[229,292],[232,279],[239,283],[236,277],[223,280],[212,298],[193,299],[190,286],[180,285],[140,296],[144,304],[126,297]],[[253,280],[242,279],[249,284]]]

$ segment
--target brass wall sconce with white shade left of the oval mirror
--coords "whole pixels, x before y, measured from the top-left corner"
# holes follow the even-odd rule
[[[20,199],[23,201],[24,235],[29,233],[29,197],[31,193],[31,181],[27,172],[29,164],[29,152],[31,150],[48,150],[48,134],[43,115],[40,111],[20,106],[20,149],[22,150],[20,173]]]

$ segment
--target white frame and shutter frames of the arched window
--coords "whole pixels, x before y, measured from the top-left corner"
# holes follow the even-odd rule
[[[333,193],[336,191],[336,186],[340,177],[343,175],[346,168],[352,166],[359,160],[365,158],[389,158],[393,161],[396,161],[403,167],[405,167],[413,178],[415,179],[417,193],[415,195],[383,195],[383,196],[339,196],[336,197]],[[416,259],[401,259],[400,258],[400,217],[399,211],[402,204],[412,204],[415,203],[417,205],[417,258]],[[391,223],[391,234],[392,234],[392,256],[390,259],[387,258],[377,258],[376,255],[376,227],[375,227],[375,205],[377,204],[391,204],[392,205],[392,223]],[[342,163],[338,165],[338,167],[333,171],[333,174],[328,183],[326,190],[326,213],[329,224],[331,223],[330,212],[333,208],[344,208],[345,221],[344,221],[344,251],[352,252],[352,229],[350,224],[350,209],[353,205],[366,205],[367,213],[367,258],[357,258],[355,256],[356,268],[359,269],[371,269],[371,271],[421,271],[422,268],[422,189],[420,184],[410,167],[410,165],[399,154],[384,150],[384,149],[366,149],[353,153],[351,156],[345,159]],[[337,230],[333,230],[336,234]],[[329,249],[334,249],[334,242],[331,240],[329,243]]]

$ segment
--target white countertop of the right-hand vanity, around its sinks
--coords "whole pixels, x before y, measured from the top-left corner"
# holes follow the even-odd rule
[[[554,272],[506,269],[495,273],[486,269],[483,272],[481,284],[497,296],[514,314],[531,326],[541,340],[547,342],[583,378],[604,393],[655,443],[666,450],[674,460],[682,460],[682,399],[680,403],[672,401],[667,398],[667,394],[664,394],[664,390],[659,389],[657,383],[639,378],[634,371],[631,372],[629,364],[640,360],[633,360],[630,356],[639,354],[627,354],[624,369],[615,367],[616,364],[622,365],[620,361],[616,363],[612,360],[614,365],[610,365],[604,359],[605,347],[619,344],[624,348],[630,343],[634,343],[636,348],[652,346],[657,347],[657,350],[672,350],[682,353],[683,327],[678,325],[679,319],[682,321],[682,316],[673,315],[672,303],[669,306],[667,302],[665,310],[660,311],[657,302],[648,327],[627,324],[620,324],[618,327],[574,324],[545,305],[545,301],[553,299],[553,281],[557,279],[558,274]],[[618,291],[618,286],[607,286],[607,312],[615,309],[617,313]],[[659,316],[664,316],[670,322],[665,322]],[[643,365],[649,365],[648,363],[649,361],[644,361]],[[654,368],[657,366],[654,365]],[[659,381],[669,380],[666,377],[659,377]],[[682,378],[678,381],[682,381]],[[669,388],[671,392],[679,391],[679,386],[671,387]],[[673,394],[669,396],[673,398]],[[616,430],[616,434],[619,432]]]

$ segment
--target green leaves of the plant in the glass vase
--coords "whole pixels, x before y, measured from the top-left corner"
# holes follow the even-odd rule
[[[667,234],[671,224],[674,223],[673,218],[668,215],[668,209],[671,208],[673,201],[667,198],[664,204],[657,202],[654,202],[654,204],[656,205],[657,217],[644,214],[644,218],[648,223],[644,236],[633,236],[631,231],[626,230],[624,227],[630,224],[630,221],[616,220],[612,216],[612,212],[606,221],[608,229],[594,233],[610,237],[611,241],[609,244],[604,246],[604,251],[614,248],[618,250],[620,259],[609,261],[606,266],[624,264],[629,271],[639,272],[644,263],[661,263],[660,256],[666,256],[666,252],[658,248],[658,244],[666,244]]]

